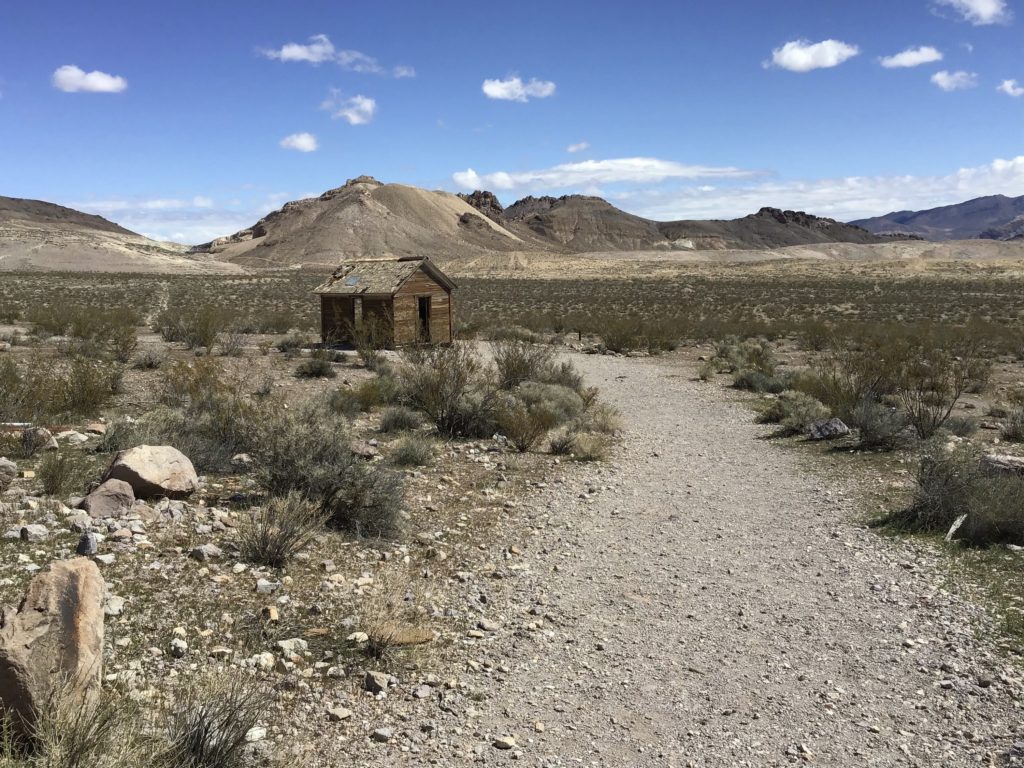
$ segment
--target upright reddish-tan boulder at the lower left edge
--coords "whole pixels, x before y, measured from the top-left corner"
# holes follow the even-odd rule
[[[58,693],[88,707],[103,668],[103,579],[91,560],[50,564],[0,617],[0,708],[22,736]]]

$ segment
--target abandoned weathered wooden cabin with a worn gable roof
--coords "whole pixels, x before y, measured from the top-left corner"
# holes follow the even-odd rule
[[[313,291],[321,298],[321,338],[351,342],[353,329],[373,324],[387,346],[447,343],[455,287],[424,256],[345,261]]]

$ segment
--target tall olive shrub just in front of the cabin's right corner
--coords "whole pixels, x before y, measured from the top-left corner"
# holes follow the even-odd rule
[[[495,385],[463,344],[403,351],[398,381],[410,403],[444,435],[487,436],[495,420]]]

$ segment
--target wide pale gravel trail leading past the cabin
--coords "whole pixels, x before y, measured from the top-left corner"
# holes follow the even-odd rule
[[[1020,670],[982,649],[981,610],[927,549],[859,526],[855,489],[758,440],[681,362],[574,362],[628,415],[625,444],[589,490],[527,511],[529,571],[487,611],[505,626],[478,759],[1005,764]]]

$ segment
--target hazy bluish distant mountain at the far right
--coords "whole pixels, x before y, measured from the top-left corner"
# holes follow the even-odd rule
[[[991,195],[927,211],[896,211],[851,221],[876,234],[912,234],[925,240],[1022,240],[1024,196]]]

